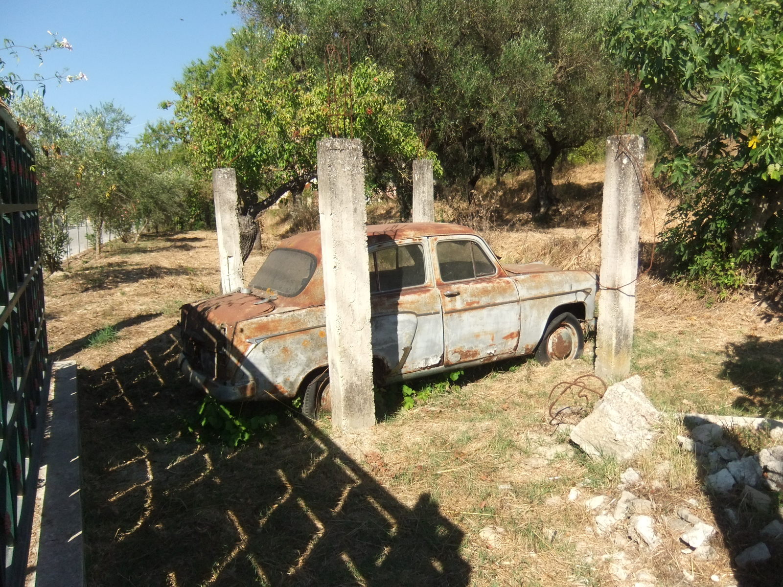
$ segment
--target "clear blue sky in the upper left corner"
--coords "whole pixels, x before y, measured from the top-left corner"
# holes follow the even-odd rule
[[[46,31],[67,38],[73,51],[59,49],[44,55],[43,66],[28,51],[20,61],[3,52],[6,70],[32,77],[49,77],[68,69],[84,72],[88,81],[46,82],[45,103],[60,114],[114,100],[133,117],[128,126],[133,143],[148,121],[171,117],[157,107],[175,99],[171,85],[194,59],[204,59],[212,46],[222,45],[240,18],[231,0],[2,0],[0,38],[19,45],[46,45]],[[34,91],[34,82],[25,84]]]

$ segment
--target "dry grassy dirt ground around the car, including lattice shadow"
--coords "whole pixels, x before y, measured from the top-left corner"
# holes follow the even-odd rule
[[[659,197],[649,210],[667,205]],[[485,226],[504,260],[594,269],[588,220]],[[238,449],[198,442],[189,428],[203,396],[176,369],[177,323],[182,303],[216,294],[216,251],[212,232],[146,236],[72,259],[45,282],[52,358],[79,366],[88,585],[779,582],[780,556],[773,567],[732,569],[752,536],[731,529],[710,561],[680,552],[662,524],[656,550],[597,533],[583,499],[618,497],[627,465],[586,459],[547,415],[556,384],[590,373],[590,348],[569,364],[473,369],[448,393],[392,408],[362,438],[284,405],[251,405],[276,425]],[[262,257],[251,257],[246,279]],[[643,274],[636,323],[633,373],[657,408],[783,416],[779,312],[750,294],[717,302]],[[91,344],[107,326],[116,340]],[[655,450],[630,463],[643,479],[634,492],[657,520],[687,506],[723,530],[722,506],[676,434],[684,429],[672,420]],[[620,558],[630,561],[624,574]]]

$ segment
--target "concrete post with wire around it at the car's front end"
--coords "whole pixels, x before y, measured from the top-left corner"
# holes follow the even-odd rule
[[[606,139],[600,279],[609,289],[598,301],[595,373],[609,381],[625,379],[631,368],[644,153],[639,135]]]

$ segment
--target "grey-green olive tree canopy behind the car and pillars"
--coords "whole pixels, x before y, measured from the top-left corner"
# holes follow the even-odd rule
[[[551,198],[562,149],[601,135],[612,76],[600,34],[612,0],[239,0],[264,30],[306,31],[299,54],[323,59],[337,41],[355,62],[394,73],[393,95],[468,189],[519,153],[536,161]],[[548,205],[548,204],[547,204]]]

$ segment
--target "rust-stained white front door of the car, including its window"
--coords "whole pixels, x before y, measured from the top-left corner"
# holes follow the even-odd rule
[[[519,343],[519,296],[486,243],[472,236],[430,239],[443,308],[444,365],[511,356]]]

